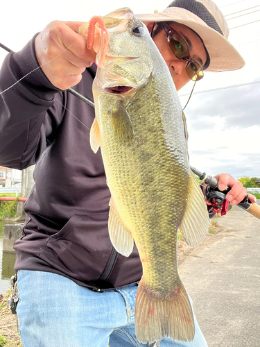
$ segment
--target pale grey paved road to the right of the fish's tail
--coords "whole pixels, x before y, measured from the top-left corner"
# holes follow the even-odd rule
[[[180,277],[209,347],[259,347],[260,220],[236,207],[218,225],[182,256]]]

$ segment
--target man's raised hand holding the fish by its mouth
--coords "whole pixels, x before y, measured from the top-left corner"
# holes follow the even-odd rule
[[[35,38],[37,60],[49,81],[61,90],[80,82],[96,53],[87,49],[86,38],[76,31],[83,22],[51,22]]]

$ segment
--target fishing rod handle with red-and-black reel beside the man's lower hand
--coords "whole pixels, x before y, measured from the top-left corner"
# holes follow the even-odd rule
[[[205,196],[207,198],[209,217],[214,217],[216,213],[225,216],[227,211],[232,208],[232,205],[229,205],[229,201],[226,198],[231,187],[227,187],[225,190],[220,190],[218,189],[218,180],[216,180],[216,178],[207,175],[205,172],[200,172],[195,167],[191,167],[191,171],[193,171],[193,174],[196,174],[196,176],[207,185],[205,187]],[[248,194],[240,203],[237,204],[237,206],[260,219],[260,206],[257,205],[257,203],[251,203]]]

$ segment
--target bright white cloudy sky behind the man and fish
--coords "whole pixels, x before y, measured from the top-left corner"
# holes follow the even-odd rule
[[[162,11],[171,0],[0,0],[0,42],[19,51],[53,20],[88,22],[129,7],[135,13]],[[90,3],[90,4],[89,4]],[[260,5],[259,0],[216,0],[229,26],[229,41],[245,60],[237,71],[206,72],[185,109],[189,158],[211,176],[260,177]],[[236,18],[235,18],[236,17]],[[252,23],[253,22],[253,23]],[[0,48],[0,65],[6,52]],[[182,107],[193,87],[178,92]]]

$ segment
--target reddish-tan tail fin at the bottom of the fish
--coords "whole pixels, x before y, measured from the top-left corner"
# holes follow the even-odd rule
[[[162,299],[153,295],[141,279],[135,303],[135,333],[142,344],[153,344],[165,336],[180,342],[193,341],[193,312],[181,280],[171,297]]]

